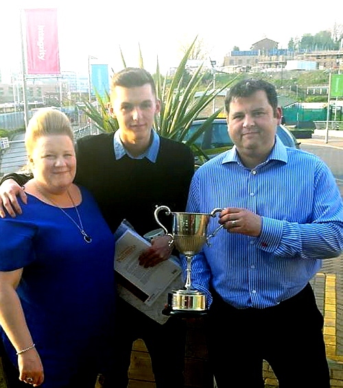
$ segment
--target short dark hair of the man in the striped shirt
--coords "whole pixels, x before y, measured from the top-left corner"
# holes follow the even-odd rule
[[[274,116],[278,107],[278,97],[274,85],[263,80],[242,80],[237,82],[232,88],[228,90],[225,97],[225,110],[228,113],[230,110],[230,103],[237,97],[250,97],[259,90],[264,90],[267,95],[268,102],[273,108]]]

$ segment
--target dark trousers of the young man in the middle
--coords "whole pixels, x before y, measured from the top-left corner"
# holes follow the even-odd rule
[[[126,388],[132,343],[143,339],[152,361],[156,388],[183,388],[187,326],[169,317],[158,324],[119,298],[117,302],[115,364],[104,376],[104,388]]]

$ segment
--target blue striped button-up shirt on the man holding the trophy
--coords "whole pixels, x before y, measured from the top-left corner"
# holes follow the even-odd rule
[[[191,182],[187,212],[247,208],[262,217],[259,237],[222,228],[191,263],[191,282],[211,303],[213,289],[236,308],[265,308],[300,292],[323,258],[343,250],[343,204],[317,156],[276,143],[254,169],[235,147],[206,162]],[[210,234],[218,226],[211,218]],[[182,260],[185,269],[185,259]]]

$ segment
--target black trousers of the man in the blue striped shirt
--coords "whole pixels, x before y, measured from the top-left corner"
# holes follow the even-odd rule
[[[263,388],[263,360],[279,388],[329,388],[323,323],[310,284],[263,309],[237,309],[214,293],[205,330],[218,388]]]

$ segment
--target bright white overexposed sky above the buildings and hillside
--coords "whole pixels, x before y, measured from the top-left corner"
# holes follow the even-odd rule
[[[4,5],[5,3],[5,5]],[[87,74],[88,56],[94,64],[119,71],[123,64],[139,66],[139,46],[144,67],[154,73],[177,66],[182,47],[196,36],[211,60],[222,64],[234,46],[241,50],[263,38],[287,48],[290,38],[332,30],[343,25],[343,1],[246,0],[16,0],[0,5],[0,69],[4,74],[20,68],[21,9],[57,8],[61,71]]]

